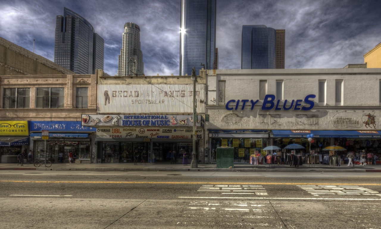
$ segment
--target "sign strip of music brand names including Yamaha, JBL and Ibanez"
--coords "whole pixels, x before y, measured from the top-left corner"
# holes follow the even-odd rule
[[[105,139],[192,139],[191,128],[123,127],[97,128],[96,136]],[[203,129],[197,129],[196,138],[203,139]]]

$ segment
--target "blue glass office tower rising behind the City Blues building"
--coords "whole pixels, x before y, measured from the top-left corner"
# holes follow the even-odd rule
[[[276,32],[263,25],[242,26],[242,69],[275,69]]]

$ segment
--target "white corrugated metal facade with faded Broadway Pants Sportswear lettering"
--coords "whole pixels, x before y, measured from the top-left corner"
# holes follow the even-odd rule
[[[205,113],[205,84],[196,85],[196,98]],[[193,84],[98,85],[98,113],[193,113],[192,101]]]

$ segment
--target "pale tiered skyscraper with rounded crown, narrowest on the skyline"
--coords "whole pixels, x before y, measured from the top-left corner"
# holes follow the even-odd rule
[[[140,27],[131,22],[124,24],[123,44],[120,50],[118,76],[144,75],[143,54],[140,50]]]

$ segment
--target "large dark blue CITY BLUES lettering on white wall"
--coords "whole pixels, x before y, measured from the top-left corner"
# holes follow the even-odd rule
[[[314,108],[315,103],[312,101],[312,98],[316,98],[316,95],[307,95],[304,97],[304,99],[297,99],[297,100],[291,100],[288,101],[287,99],[284,100],[283,104],[281,104],[281,100],[275,100],[275,95],[265,95],[261,110],[272,110],[275,109],[276,111],[279,110],[303,110],[303,111],[309,111]],[[241,105],[241,110],[244,110],[246,106],[250,106],[250,110],[254,109],[254,106],[259,102],[259,100],[229,100],[226,103],[226,110],[238,110],[238,107]],[[305,103],[305,105],[302,104],[302,102]]]

